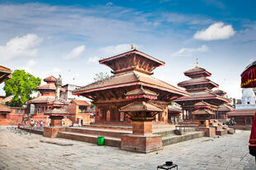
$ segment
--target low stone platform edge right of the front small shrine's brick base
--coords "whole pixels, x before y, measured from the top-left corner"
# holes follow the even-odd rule
[[[176,144],[178,142],[193,140],[205,136],[204,131],[192,131],[182,136],[166,136],[162,138],[163,146]]]

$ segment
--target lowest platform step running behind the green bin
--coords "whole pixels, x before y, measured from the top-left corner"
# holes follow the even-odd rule
[[[78,140],[78,141],[88,142],[88,143],[92,143],[92,144],[97,144],[97,136],[95,136],[95,135],[93,136],[93,135],[88,135],[88,134],[73,133],[73,132],[69,132],[69,131],[59,131],[57,137],[69,139],[69,140]],[[120,147],[121,139],[105,136],[104,145]]]

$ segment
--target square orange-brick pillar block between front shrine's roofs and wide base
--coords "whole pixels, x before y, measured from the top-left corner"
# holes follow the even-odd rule
[[[132,122],[133,135],[151,135],[152,134],[152,121],[133,121]]]

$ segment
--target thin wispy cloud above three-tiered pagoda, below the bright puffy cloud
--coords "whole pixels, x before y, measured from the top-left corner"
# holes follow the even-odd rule
[[[181,48],[178,52],[173,53],[173,57],[192,57],[197,53],[204,53],[208,51],[209,48],[206,45],[202,45],[200,48]]]

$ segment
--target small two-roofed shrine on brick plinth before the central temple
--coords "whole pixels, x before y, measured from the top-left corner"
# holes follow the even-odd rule
[[[126,93],[126,99],[133,103],[121,107],[120,112],[130,115],[132,121],[132,135],[121,136],[121,149],[149,153],[162,147],[162,137],[152,135],[152,121],[158,113],[164,112],[149,100],[157,99],[158,94],[150,90],[132,90]]]

